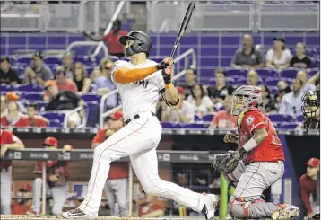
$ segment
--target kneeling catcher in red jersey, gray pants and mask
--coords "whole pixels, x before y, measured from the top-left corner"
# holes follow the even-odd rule
[[[265,189],[282,178],[282,143],[271,120],[258,109],[261,89],[243,85],[233,93],[232,114],[238,116],[239,136],[226,134],[224,142],[237,143],[235,152],[219,155],[213,168],[223,172],[236,186],[230,198],[229,213],[236,219],[290,219],[299,216],[292,205],[265,202]]]

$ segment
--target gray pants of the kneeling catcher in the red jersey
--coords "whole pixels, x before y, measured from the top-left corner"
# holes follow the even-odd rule
[[[280,207],[260,199],[263,191],[282,178],[284,163],[256,162],[246,166],[234,196],[230,199],[230,216],[236,218],[269,217]]]

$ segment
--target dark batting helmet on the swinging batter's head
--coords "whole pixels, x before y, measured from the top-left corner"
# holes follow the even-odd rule
[[[130,31],[126,36],[121,36],[119,42],[126,46],[126,40],[134,40],[134,43],[125,49],[126,56],[132,56],[138,53],[146,53],[150,55],[152,49],[152,40],[150,36],[142,31]]]

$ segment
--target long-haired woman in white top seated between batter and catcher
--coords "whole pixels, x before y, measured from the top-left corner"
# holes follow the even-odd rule
[[[214,111],[213,102],[206,95],[202,84],[195,84],[192,94],[187,97],[187,102],[195,107],[195,115],[202,116]]]

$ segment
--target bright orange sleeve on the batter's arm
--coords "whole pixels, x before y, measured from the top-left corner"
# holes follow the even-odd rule
[[[156,71],[156,65],[143,68],[128,68],[126,66],[120,66],[118,62],[115,62],[111,70],[111,78],[115,83],[127,84],[143,80],[143,78],[152,75]]]

